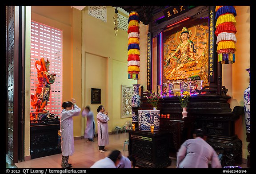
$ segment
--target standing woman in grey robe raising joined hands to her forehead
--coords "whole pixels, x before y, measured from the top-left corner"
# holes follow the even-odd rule
[[[73,116],[79,116],[81,109],[76,105],[74,98],[71,101],[62,103],[63,110],[60,115],[60,135],[61,135],[61,168],[70,168],[72,165],[68,163],[69,155],[73,155],[74,135],[73,135]]]

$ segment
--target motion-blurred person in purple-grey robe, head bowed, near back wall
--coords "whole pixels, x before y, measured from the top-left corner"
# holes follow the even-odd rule
[[[87,119],[86,128],[84,130],[84,138],[88,141],[93,142],[93,137],[95,135],[95,121],[93,112],[91,111],[90,106],[86,106],[82,111],[82,116]]]

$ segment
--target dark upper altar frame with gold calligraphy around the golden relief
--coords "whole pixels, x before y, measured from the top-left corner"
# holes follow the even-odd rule
[[[198,13],[200,12],[200,13]],[[157,84],[163,84],[163,31],[166,30],[170,26],[175,26],[182,21],[192,18],[208,18],[209,20],[209,32],[208,32],[208,39],[209,39],[209,46],[208,46],[208,55],[209,55],[209,62],[211,64],[211,71],[208,73],[208,85],[204,86],[201,89],[201,92],[205,92],[209,95],[215,94],[226,94],[227,89],[222,86],[222,64],[217,62],[216,59],[216,35],[214,34],[215,28],[215,6],[197,6],[189,10],[180,16],[177,16],[174,19],[170,19],[159,25],[153,25],[153,21],[149,22],[149,29],[148,33],[150,33],[150,37],[154,38],[157,37]],[[152,39],[151,38],[151,39]],[[152,43],[150,43],[152,44]],[[152,45],[150,45],[152,48]],[[152,66],[152,58],[150,59],[150,65]],[[210,70],[210,68],[208,68]],[[147,85],[147,89],[151,90],[152,88],[152,77],[149,76],[147,79],[149,84]]]

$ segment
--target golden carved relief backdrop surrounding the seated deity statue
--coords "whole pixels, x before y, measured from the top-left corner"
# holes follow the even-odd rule
[[[171,59],[171,62],[166,62],[167,58],[173,53],[178,45],[181,43],[180,34],[183,27],[191,31],[189,40],[193,42],[190,44],[194,46],[196,65],[193,67],[181,66],[187,60]],[[208,86],[208,60],[209,60],[209,23],[208,19],[194,18],[188,21],[179,23],[170,27],[163,32],[163,83],[182,80],[187,81],[189,77],[199,76],[203,80],[202,87]],[[178,70],[176,67],[180,67]]]

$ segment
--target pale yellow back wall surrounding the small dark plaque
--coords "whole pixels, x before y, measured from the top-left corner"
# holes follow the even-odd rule
[[[107,22],[88,15],[88,7],[82,10],[82,66],[85,73],[84,106],[91,106],[96,121],[96,109],[104,105],[110,117],[108,131],[111,132],[116,125],[122,127],[126,120],[132,119],[121,118],[121,85],[132,86],[137,81],[128,79],[128,33],[119,29],[115,35],[115,8],[106,7]],[[91,104],[91,88],[101,89],[101,104]],[[84,131],[86,119],[82,118],[82,124]]]

